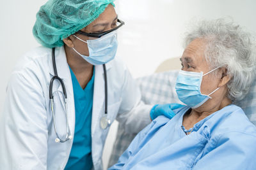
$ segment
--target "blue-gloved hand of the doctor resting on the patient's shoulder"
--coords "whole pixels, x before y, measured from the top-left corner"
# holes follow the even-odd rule
[[[156,104],[150,111],[150,118],[154,120],[160,115],[164,115],[167,118],[173,118],[175,113],[173,110],[183,107],[184,105],[178,103],[171,104]]]

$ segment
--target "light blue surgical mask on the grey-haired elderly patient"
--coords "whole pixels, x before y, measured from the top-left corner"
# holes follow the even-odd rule
[[[218,68],[219,67],[217,67],[216,69]],[[211,99],[210,95],[216,92],[216,90],[220,89],[220,87],[218,87],[216,90],[208,95],[202,94],[200,88],[203,76],[211,73],[216,69],[212,69],[205,74],[203,74],[202,71],[200,73],[196,73],[180,70],[175,86],[180,101],[195,109],[204,104],[205,101],[207,101],[208,99]]]

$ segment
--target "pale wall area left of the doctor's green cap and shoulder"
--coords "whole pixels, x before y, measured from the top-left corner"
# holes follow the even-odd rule
[[[6,85],[16,60],[39,44],[33,38],[36,12],[46,0],[4,1],[0,10],[0,111],[3,110]]]

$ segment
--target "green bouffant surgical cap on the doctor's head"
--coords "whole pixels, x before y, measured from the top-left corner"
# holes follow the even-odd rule
[[[36,13],[33,34],[43,46],[63,46],[62,39],[92,23],[113,1],[49,0]]]

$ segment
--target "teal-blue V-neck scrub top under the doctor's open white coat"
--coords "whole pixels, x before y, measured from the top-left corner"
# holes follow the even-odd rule
[[[92,169],[93,166],[91,124],[94,72],[93,67],[92,79],[88,82],[86,87],[82,89],[70,68],[74,90],[76,125],[72,150],[65,167],[66,170]]]

